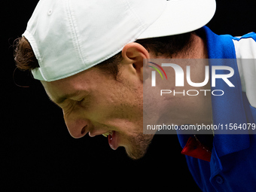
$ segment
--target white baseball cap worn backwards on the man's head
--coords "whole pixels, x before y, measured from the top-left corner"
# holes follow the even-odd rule
[[[38,59],[32,75],[56,81],[96,66],[136,39],[191,32],[215,0],[41,0],[23,36]]]

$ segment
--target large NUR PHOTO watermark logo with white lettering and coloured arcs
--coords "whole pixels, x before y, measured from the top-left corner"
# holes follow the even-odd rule
[[[172,94],[173,96],[197,96],[200,93],[206,96],[209,92],[213,96],[223,96],[224,90],[211,90],[208,88],[208,84],[211,83],[211,87],[220,87],[218,86],[219,84],[221,84],[221,87],[235,87],[231,82],[233,81],[234,69],[228,61],[223,62],[222,64],[224,65],[219,65],[216,61],[213,65],[209,65],[209,62],[212,62],[212,60],[157,59],[157,62],[154,60],[151,60],[151,62],[147,61],[147,66],[153,69],[151,71],[151,87],[160,86],[162,88],[160,96],[166,96],[166,94]],[[156,77],[157,72],[162,81]],[[197,73],[194,74],[194,72]],[[184,90],[181,90],[179,87],[184,87]],[[191,89],[191,87],[194,88]]]

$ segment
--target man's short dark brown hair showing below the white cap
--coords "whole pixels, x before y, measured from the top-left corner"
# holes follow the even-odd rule
[[[155,56],[159,54],[168,58],[172,58],[173,55],[187,51],[190,47],[191,32],[181,35],[171,35],[160,38],[147,38],[139,39],[136,42],[142,44],[149,52],[154,53]],[[17,68],[22,71],[31,71],[39,67],[38,59],[35,57],[35,53],[32,50],[29,41],[25,37],[17,38],[14,41],[14,60]],[[106,59],[104,62],[100,62],[94,66],[102,70],[102,72],[108,73],[114,76],[117,80],[119,72],[119,63],[122,60],[121,52]]]

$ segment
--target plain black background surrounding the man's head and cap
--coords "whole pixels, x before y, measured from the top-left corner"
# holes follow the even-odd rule
[[[177,136],[155,136],[145,157],[136,161],[123,148],[112,151],[103,136],[72,139],[62,111],[49,101],[40,82],[26,72],[14,73],[11,45],[25,31],[37,2],[2,2],[0,190],[200,191]],[[256,31],[254,13],[253,0],[218,0],[207,26],[217,34],[244,35]],[[30,87],[14,84],[13,73],[17,84]]]

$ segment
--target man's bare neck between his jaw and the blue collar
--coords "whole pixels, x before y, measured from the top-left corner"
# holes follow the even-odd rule
[[[193,35],[190,50],[186,51],[186,53],[180,53],[174,56],[174,58],[207,59],[206,42],[197,35]],[[208,62],[199,63],[200,65],[198,65],[198,63],[195,64],[196,65],[190,65],[190,79],[193,82],[203,82],[205,79],[205,67],[208,66]],[[186,66],[181,66],[181,68],[184,70],[184,75],[186,75]],[[173,76],[175,76],[175,74],[173,74]],[[205,96],[205,92],[200,91],[211,90],[211,84],[209,82],[204,87],[191,87],[189,84],[184,84],[184,87],[175,87],[174,90],[178,94],[166,99],[165,102],[163,102],[162,108],[164,116],[168,114],[169,117],[172,117],[169,123],[176,125],[212,123],[211,93],[207,91]],[[197,96],[188,96],[187,90],[197,90],[199,94]],[[184,92],[184,94],[182,94],[182,92]],[[195,94],[195,91],[191,92],[191,94]],[[168,105],[168,107],[166,107],[166,105]]]

